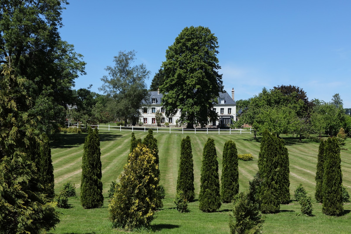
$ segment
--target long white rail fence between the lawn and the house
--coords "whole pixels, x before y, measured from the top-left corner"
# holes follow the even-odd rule
[[[81,127],[84,128],[84,125],[78,124],[78,123],[67,123],[68,127]],[[108,131],[142,131],[142,132],[147,132],[148,129],[152,129],[154,132],[157,133],[176,133],[176,134],[252,134],[253,129],[242,129],[242,128],[237,128],[237,129],[228,129],[228,128],[218,128],[218,129],[212,129],[212,128],[194,128],[194,129],[187,129],[187,128],[172,128],[172,127],[136,127],[136,126],[130,126],[130,127],[124,127],[124,126],[114,126],[114,125],[90,125],[92,128],[98,127],[98,129],[104,129]]]

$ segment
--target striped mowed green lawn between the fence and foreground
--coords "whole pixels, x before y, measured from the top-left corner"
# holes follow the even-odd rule
[[[144,138],[147,132],[134,132],[137,138]],[[200,190],[200,171],[203,147],[208,138],[213,138],[216,143],[219,162],[219,177],[222,169],[222,153],[224,143],[233,140],[238,153],[251,153],[253,161],[239,160],[239,185],[240,191],[246,191],[249,180],[257,172],[257,160],[260,148],[260,137],[253,140],[253,135],[217,135],[217,134],[188,134],[191,138],[194,159],[194,185],[196,199]],[[55,175],[55,192],[58,193],[67,181],[77,187],[77,196],[69,199],[71,209],[59,209],[61,222],[55,230],[49,233],[60,234],[110,234],[125,233],[113,230],[108,220],[108,189],[112,180],[117,180],[127,162],[130,148],[131,131],[100,130],[100,149],[102,163],[102,183],[104,185],[104,207],[85,210],[79,201],[81,180],[81,158],[86,134],[62,134],[60,142],[51,145],[52,161]],[[217,212],[203,213],[199,210],[199,202],[189,203],[190,213],[181,214],[175,209],[173,199],[176,194],[178,166],[180,157],[180,143],[185,134],[156,133],[160,158],[160,183],[165,186],[166,198],[164,208],[159,210],[152,222],[152,231],[138,230],[137,233],[156,232],[164,233],[230,233],[229,214],[232,204],[222,204]],[[264,233],[350,233],[351,204],[344,205],[344,215],[340,217],[326,216],[322,213],[322,205],[314,199],[318,143],[281,135],[289,151],[290,160],[290,194],[299,183],[307,190],[313,201],[313,216],[307,217],[300,214],[300,206],[296,201],[288,205],[281,205],[280,213],[264,215]],[[343,184],[351,194],[351,140],[347,139],[346,145],[341,150]],[[345,150],[347,149],[347,150]]]

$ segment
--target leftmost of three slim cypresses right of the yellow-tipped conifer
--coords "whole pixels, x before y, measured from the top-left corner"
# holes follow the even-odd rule
[[[192,201],[195,198],[194,188],[194,163],[190,137],[181,140],[180,163],[177,179],[177,191],[182,190],[185,198]]]

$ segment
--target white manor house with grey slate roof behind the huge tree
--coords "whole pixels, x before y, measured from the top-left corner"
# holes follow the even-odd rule
[[[161,106],[161,99],[163,94],[160,91],[151,91],[149,106],[141,108],[139,122],[142,122],[146,126],[157,126],[155,113],[160,111],[163,114],[161,119],[161,125],[165,126],[168,123],[169,126],[174,127],[180,118],[180,110],[173,117],[165,116],[165,108]],[[219,119],[207,125],[207,127],[224,127],[229,126],[236,121],[236,103],[234,101],[234,88],[232,89],[232,97],[227,92],[219,93],[218,104],[214,105],[214,110],[218,113]],[[166,124],[167,125],[167,124]],[[179,125],[178,125],[179,126]]]

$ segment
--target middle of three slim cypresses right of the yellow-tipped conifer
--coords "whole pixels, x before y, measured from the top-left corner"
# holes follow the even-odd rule
[[[217,153],[211,138],[208,138],[203,152],[199,202],[203,212],[213,212],[221,206]]]

